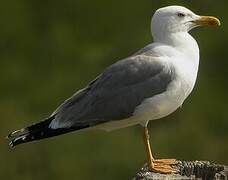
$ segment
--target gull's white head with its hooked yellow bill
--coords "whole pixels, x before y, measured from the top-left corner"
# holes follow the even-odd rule
[[[219,26],[220,21],[212,16],[199,16],[182,6],[167,6],[158,9],[152,18],[153,37],[171,33],[188,32],[197,26]]]

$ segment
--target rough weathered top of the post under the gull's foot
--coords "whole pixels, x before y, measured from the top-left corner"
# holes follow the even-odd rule
[[[133,180],[227,180],[228,166],[208,161],[178,161],[173,165],[176,174],[159,174],[148,171],[145,165]]]

